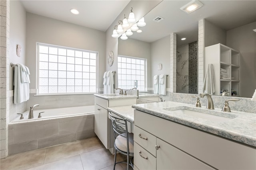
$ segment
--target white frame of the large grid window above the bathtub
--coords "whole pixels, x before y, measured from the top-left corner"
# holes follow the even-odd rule
[[[53,47],[53,48],[62,48],[62,49],[66,49],[66,50],[74,50],[74,51],[82,51],[82,52],[87,52],[87,53],[95,53],[96,54],[96,72],[95,72],[95,92],[65,92],[65,93],[39,93],[39,73],[40,73],[40,67],[39,67],[39,64],[40,64],[40,59],[39,59],[39,46],[42,45],[42,46],[47,46],[47,47]],[[49,55],[49,53],[48,53]],[[36,96],[51,96],[51,95],[74,95],[74,94],[95,94],[95,93],[98,93],[98,51],[90,51],[90,50],[85,50],[85,49],[78,49],[78,48],[73,48],[73,47],[65,47],[65,46],[60,46],[60,45],[52,45],[52,44],[47,44],[47,43],[40,43],[40,42],[36,42]],[[83,58],[82,58],[83,59]],[[49,61],[48,61],[49,63]],[[58,62],[57,62],[58,63]],[[67,64],[67,62],[66,62]],[[76,65],[74,63],[74,65]],[[83,65],[82,65],[83,66]],[[49,71],[49,67],[48,67],[48,71]],[[59,71],[59,70],[57,70]],[[74,70],[74,72],[76,72]],[[49,74],[49,73],[48,73]],[[49,77],[48,77],[49,78]],[[76,80],[76,78],[74,78],[74,81]],[[83,80],[83,78],[82,78]],[[90,78],[89,78],[90,80]],[[49,84],[48,84],[49,86]],[[57,85],[58,86],[58,85]],[[67,87],[67,84],[66,84],[66,87]],[[90,85],[89,85],[89,88],[90,88]]]

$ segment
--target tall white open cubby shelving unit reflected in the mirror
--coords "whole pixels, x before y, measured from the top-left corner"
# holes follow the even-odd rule
[[[215,95],[221,95],[222,90],[228,90],[232,95],[232,90],[239,96],[240,93],[240,53],[226,45],[215,44],[205,47],[205,68],[208,64],[214,67]],[[221,78],[221,68],[226,70],[227,76]]]

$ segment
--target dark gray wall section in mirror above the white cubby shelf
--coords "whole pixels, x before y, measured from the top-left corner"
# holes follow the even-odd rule
[[[226,45],[226,31],[204,20],[204,47],[218,43]]]

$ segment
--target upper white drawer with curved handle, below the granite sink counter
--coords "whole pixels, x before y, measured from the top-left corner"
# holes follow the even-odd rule
[[[134,126],[134,141],[156,156],[156,137],[137,126]],[[144,139],[143,139],[144,138]]]

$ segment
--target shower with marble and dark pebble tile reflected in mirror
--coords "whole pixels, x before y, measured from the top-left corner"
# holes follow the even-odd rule
[[[177,47],[176,92],[198,94],[198,41]]]

